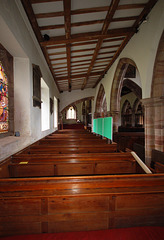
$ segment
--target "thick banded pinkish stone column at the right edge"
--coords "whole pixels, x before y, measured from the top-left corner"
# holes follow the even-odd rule
[[[145,163],[150,166],[152,149],[164,151],[164,97],[143,99],[145,107]]]

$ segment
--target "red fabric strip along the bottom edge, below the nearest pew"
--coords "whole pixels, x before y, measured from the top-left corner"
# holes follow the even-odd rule
[[[164,227],[135,227],[102,231],[44,233],[1,240],[164,240]]]

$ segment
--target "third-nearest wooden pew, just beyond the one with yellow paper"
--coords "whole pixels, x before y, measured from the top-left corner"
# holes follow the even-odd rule
[[[29,147],[27,150],[22,153],[58,153],[58,154],[69,154],[69,153],[101,153],[101,152],[116,152],[117,145],[116,144],[99,144],[99,145],[33,145]]]

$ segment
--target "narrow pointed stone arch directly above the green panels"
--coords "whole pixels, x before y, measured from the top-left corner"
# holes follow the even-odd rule
[[[95,117],[107,116],[107,101],[104,86],[101,84],[96,99]]]

